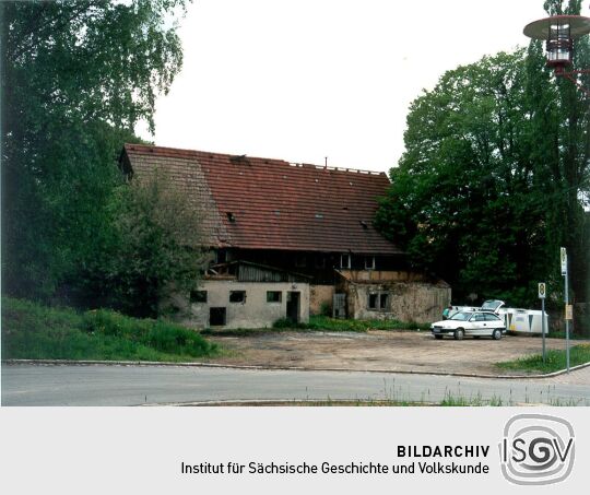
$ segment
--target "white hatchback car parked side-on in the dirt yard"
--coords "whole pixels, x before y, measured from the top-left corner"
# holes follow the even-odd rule
[[[430,329],[435,339],[452,335],[457,340],[461,340],[467,335],[491,337],[494,340],[499,340],[506,333],[504,320],[487,311],[456,313],[448,320],[436,321],[430,326]]]

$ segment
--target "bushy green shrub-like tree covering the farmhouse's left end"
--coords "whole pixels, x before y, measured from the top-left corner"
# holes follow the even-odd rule
[[[166,170],[117,188],[101,256],[84,279],[101,290],[99,303],[140,317],[174,307],[174,296],[196,287],[208,261],[201,248],[201,212]]]

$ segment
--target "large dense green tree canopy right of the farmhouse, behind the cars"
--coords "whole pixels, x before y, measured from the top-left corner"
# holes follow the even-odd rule
[[[579,2],[567,9],[579,13]],[[576,49],[575,66],[590,67],[588,42]],[[589,126],[588,97],[554,78],[539,42],[448,71],[411,105],[406,150],[377,224],[414,267],[451,283],[457,299],[476,293],[528,305],[541,281],[562,293],[565,246],[585,300]]]

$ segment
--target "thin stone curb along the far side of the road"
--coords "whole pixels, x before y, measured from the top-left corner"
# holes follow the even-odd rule
[[[309,368],[302,366],[258,366],[258,365],[231,365],[217,363],[164,363],[156,361],[68,361],[68,360],[2,360],[2,365],[49,365],[49,366],[177,366],[177,367],[198,367],[198,368],[227,368],[246,370],[267,370],[267,372],[340,372],[340,373],[381,373],[391,375],[430,375],[430,376],[456,376],[460,378],[487,378],[487,379],[542,379],[553,378],[567,374],[567,369],[547,373],[545,375],[477,375],[470,373],[442,373],[442,372],[417,372],[417,370],[396,370],[396,369],[351,369],[351,368]],[[576,372],[590,366],[590,362],[569,368]]]

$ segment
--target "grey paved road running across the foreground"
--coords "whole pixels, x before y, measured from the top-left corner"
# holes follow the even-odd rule
[[[179,366],[3,365],[2,405],[139,405],[228,400],[502,399],[590,405],[590,368],[548,379]]]

